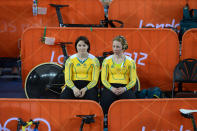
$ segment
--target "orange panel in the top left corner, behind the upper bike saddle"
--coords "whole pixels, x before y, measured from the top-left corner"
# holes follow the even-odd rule
[[[46,13],[37,16],[32,13],[33,0],[1,0],[0,57],[19,57],[21,35],[27,27],[59,27],[56,9],[49,4],[69,5],[61,8],[65,24],[100,24],[104,19],[99,0],[38,0],[38,8]]]

